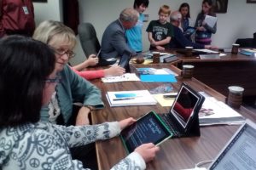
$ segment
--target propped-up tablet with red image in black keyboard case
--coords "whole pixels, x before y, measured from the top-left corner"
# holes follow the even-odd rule
[[[182,85],[172,105],[171,113],[183,128],[187,127],[195,114],[195,108],[201,102],[199,94]]]

